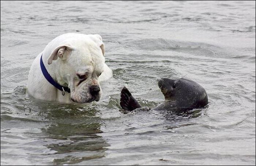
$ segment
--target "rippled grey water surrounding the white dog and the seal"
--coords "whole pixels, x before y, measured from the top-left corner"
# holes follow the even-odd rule
[[[103,38],[99,102],[26,95],[34,58],[68,32]],[[121,110],[123,86],[163,101],[161,77],[201,84],[208,106]],[[1,1],[1,165],[255,165],[255,1]]]

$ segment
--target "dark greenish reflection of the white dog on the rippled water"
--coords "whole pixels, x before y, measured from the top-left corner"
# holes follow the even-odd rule
[[[102,124],[95,106],[65,104],[41,110],[45,111],[40,111],[40,115],[53,120],[51,125],[41,129],[46,147],[56,151],[53,164],[75,164],[105,157],[109,144],[98,135],[102,133]]]

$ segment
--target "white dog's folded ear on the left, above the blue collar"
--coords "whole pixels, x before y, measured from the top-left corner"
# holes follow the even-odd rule
[[[62,60],[67,59],[71,50],[72,50],[72,48],[67,45],[63,45],[63,46],[59,46],[59,47],[55,48],[53,50],[52,54],[47,59],[47,63],[52,64],[52,61],[57,60],[58,57],[61,58]]]

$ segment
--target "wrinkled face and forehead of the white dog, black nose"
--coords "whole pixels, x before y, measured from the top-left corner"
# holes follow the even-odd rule
[[[69,40],[56,50],[61,58],[58,82],[68,84],[71,100],[78,103],[99,101],[102,91],[98,77],[105,64],[105,48],[101,36],[81,35],[81,38]]]

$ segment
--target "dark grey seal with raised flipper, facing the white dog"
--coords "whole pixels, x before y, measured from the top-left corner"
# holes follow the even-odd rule
[[[186,111],[204,107],[208,104],[208,97],[204,88],[188,79],[161,78],[158,86],[165,96],[165,101],[153,110]],[[120,106],[127,111],[141,108],[140,103],[131,95],[126,87],[121,90]]]

